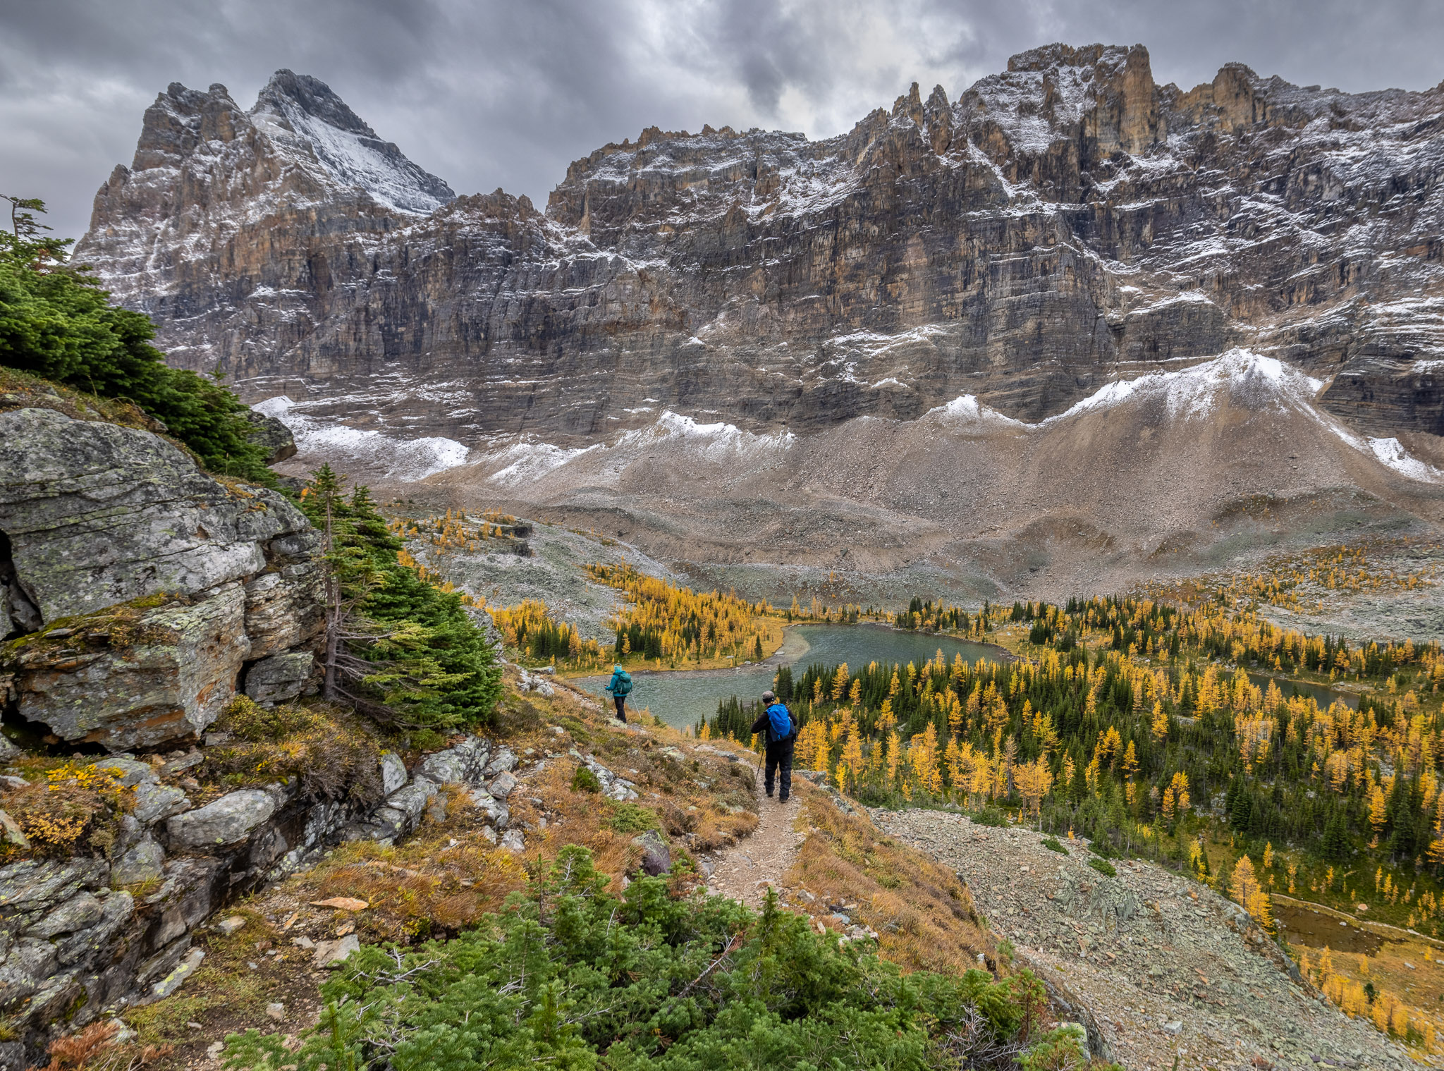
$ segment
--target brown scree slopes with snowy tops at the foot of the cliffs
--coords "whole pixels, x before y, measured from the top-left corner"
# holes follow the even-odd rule
[[[1233,349],[1035,423],[973,395],[806,436],[666,413],[591,447],[514,445],[429,485],[595,524],[708,583],[787,599],[830,574],[864,603],[1119,590],[1295,540],[1437,533],[1444,458],[1352,432],[1318,388]]]

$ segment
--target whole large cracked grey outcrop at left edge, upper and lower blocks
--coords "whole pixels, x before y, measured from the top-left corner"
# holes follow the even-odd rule
[[[150,432],[0,413],[7,720],[111,751],[193,736],[243,684],[306,687],[319,536],[282,495],[224,484]]]

